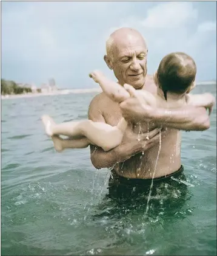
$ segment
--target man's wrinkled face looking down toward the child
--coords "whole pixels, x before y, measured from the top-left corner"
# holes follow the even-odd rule
[[[112,67],[121,85],[128,83],[141,89],[147,75],[147,47],[142,38],[129,38],[116,44]]]

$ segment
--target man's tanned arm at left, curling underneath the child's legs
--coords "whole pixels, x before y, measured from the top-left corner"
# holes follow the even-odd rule
[[[88,119],[93,122],[104,122],[105,119],[100,110],[101,106],[101,94],[96,97],[90,103],[88,109]],[[130,128],[127,128],[121,145],[113,148],[110,151],[105,152],[102,148],[90,145],[90,159],[95,168],[109,168],[113,167],[117,162],[124,162],[133,155],[144,151],[147,148],[152,147],[155,143],[159,142],[158,129],[153,130],[149,134],[142,134],[138,141],[138,134],[134,134]],[[156,135],[158,134],[158,135]],[[149,140],[146,137],[149,136]]]

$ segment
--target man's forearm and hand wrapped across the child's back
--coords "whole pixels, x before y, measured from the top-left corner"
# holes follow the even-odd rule
[[[156,108],[144,105],[136,98],[120,104],[122,116],[134,122],[155,122],[178,130],[204,131],[210,127],[209,115],[204,107],[183,106],[178,109]]]

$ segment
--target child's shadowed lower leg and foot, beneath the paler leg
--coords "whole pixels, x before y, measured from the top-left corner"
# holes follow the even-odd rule
[[[87,148],[90,141],[82,137],[81,139],[62,139],[59,136],[52,136],[53,145],[55,150],[61,152],[65,148]]]

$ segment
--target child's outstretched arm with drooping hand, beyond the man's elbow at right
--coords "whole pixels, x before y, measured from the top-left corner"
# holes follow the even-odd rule
[[[186,102],[188,105],[192,106],[204,106],[209,109],[209,115],[212,112],[213,105],[215,103],[215,97],[209,92],[204,94],[187,94]]]

